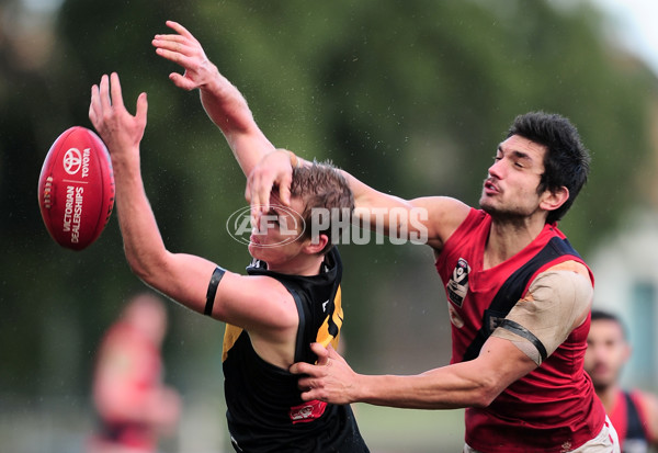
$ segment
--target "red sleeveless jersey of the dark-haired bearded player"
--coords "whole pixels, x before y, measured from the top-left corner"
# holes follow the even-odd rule
[[[488,214],[472,209],[445,242],[435,263],[449,301],[452,363],[470,359],[469,347],[473,350],[472,344],[488,328],[486,325],[497,319],[490,310],[491,302],[514,272],[537,257],[554,238],[572,250],[555,225],[546,225],[514,257],[484,270],[490,226]],[[521,283],[522,294],[540,272],[567,260],[585,264],[575,250],[544,259]],[[590,278],[593,282],[591,271]],[[582,367],[589,326],[588,317],[540,367],[510,385],[489,407],[467,408],[466,443],[483,452],[566,452],[593,439],[603,428],[605,412]],[[495,324],[489,330],[494,328]]]

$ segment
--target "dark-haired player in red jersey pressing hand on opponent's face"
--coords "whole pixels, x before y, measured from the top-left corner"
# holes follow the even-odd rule
[[[257,216],[273,184],[287,184],[290,159],[273,151],[251,173]],[[447,294],[452,361],[415,376],[368,376],[314,346],[318,364],[291,369],[308,375],[299,380],[304,398],[465,407],[465,452],[619,451],[582,366],[593,276],[557,228],[588,172],[589,154],[570,122],[534,112],[518,116],[496,147],[481,209],[445,196],[401,200],[345,173],[364,218],[433,249]],[[404,228],[392,223],[400,211],[412,218],[419,209],[424,215]]]

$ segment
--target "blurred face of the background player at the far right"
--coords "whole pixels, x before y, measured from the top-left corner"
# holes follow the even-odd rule
[[[585,371],[595,388],[614,385],[631,353],[622,327],[609,319],[592,321],[587,337]]]

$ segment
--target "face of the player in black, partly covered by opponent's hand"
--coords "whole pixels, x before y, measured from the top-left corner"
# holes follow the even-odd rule
[[[281,200],[272,194],[270,206],[270,212],[262,215],[259,225],[252,229],[249,253],[273,269],[295,259],[302,251],[303,240],[299,237],[304,228],[300,216],[304,202],[293,197],[291,206],[284,206]]]

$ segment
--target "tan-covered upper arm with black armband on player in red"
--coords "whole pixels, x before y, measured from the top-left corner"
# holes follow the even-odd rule
[[[592,295],[592,284],[581,273],[542,272],[492,336],[512,341],[541,365],[567,339]]]

